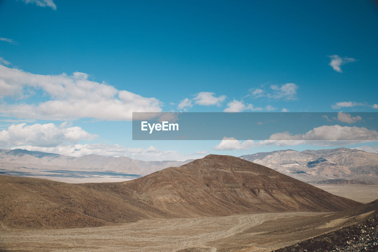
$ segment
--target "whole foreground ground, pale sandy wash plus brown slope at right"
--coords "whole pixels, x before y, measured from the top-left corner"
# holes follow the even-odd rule
[[[327,248],[332,246],[340,247],[338,244],[343,242],[348,246],[351,244],[361,246],[362,238],[374,239],[375,231],[372,227],[376,223],[377,207],[378,201],[375,201],[338,213],[297,212],[223,217],[154,218],[128,224],[81,229],[46,230],[3,227],[0,249],[4,251],[268,252],[293,245],[289,250],[282,251],[304,251],[306,244],[300,245],[302,247],[298,244],[310,239],[306,246],[313,246],[316,249],[319,247],[316,251],[327,251]],[[351,226],[352,228],[348,229]],[[353,227],[358,229],[353,229]],[[352,229],[355,232],[351,233]],[[332,233],[330,237],[322,236],[324,233],[333,231],[339,232],[335,236],[337,239]],[[365,231],[368,233],[364,233]],[[346,232],[350,232],[350,235]],[[348,241],[351,244],[348,244]],[[314,246],[314,243],[318,247]],[[328,245],[321,247],[319,243]],[[370,243],[375,246],[374,241]]]

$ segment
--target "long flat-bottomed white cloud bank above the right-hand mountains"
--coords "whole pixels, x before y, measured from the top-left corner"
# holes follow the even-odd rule
[[[239,141],[233,137],[223,137],[222,142],[214,146],[215,150],[248,150],[253,147],[262,146],[294,146],[294,145],[315,145],[315,146],[343,146],[355,143],[376,142],[378,132],[359,127],[348,126],[320,126],[305,134],[290,134],[289,132],[275,133],[267,140],[255,142],[253,140]],[[231,142],[229,142],[231,141]]]

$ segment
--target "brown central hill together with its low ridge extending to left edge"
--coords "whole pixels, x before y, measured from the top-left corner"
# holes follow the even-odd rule
[[[0,221],[7,226],[54,228],[154,217],[333,212],[361,205],[265,166],[219,155],[117,183],[0,176],[0,199]]]

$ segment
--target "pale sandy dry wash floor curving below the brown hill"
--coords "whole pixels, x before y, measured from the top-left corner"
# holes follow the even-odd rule
[[[264,213],[225,217],[148,219],[118,226],[2,232],[0,249],[28,251],[216,251],[208,242],[277,218],[318,216],[320,213]],[[323,213],[324,214],[324,213]],[[4,231],[4,230],[3,230]]]

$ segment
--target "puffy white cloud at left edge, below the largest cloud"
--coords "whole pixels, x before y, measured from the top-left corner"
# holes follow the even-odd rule
[[[53,123],[26,125],[12,124],[8,129],[0,131],[0,145],[9,148],[22,145],[39,147],[57,146],[62,143],[77,143],[79,140],[93,140],[98,135],[92,135],[80,127],[68,127],[67,122],[59,127]]]

